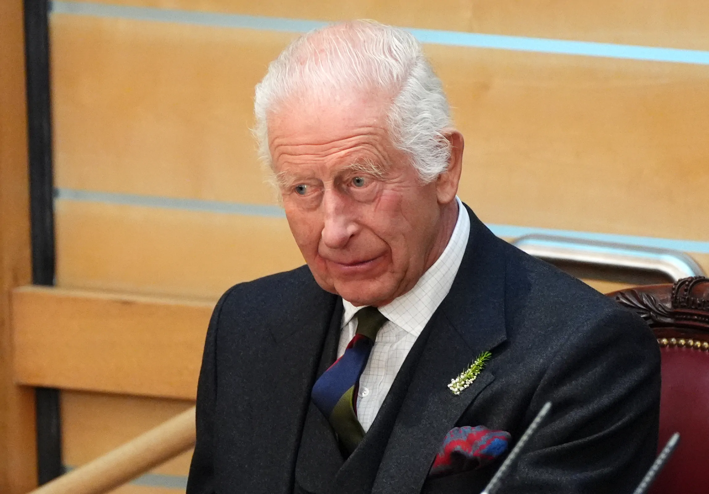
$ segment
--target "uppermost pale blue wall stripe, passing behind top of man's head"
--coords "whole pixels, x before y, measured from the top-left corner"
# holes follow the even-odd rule
[[[78,16],[127,18],[138,21],[186,23],[220,28],[274,30],[289,33],[305,33],[327,24],[323,21],[290,18],[242,16],[228,13],[180,11],[167,8],[131,7],[72,1],[52,1],[52,12]],[[421,42],[436,45],[709,65],[709,52],[701,50],[524,38],[522,36],[461,33],[432,29],[411,28],[408,31],[413,33]]]

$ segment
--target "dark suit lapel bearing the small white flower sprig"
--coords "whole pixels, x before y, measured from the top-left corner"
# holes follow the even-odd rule
[[[495,379],[484,370],[459,396],[447,388],[481,352],[506,340],[506,260],[497,246],[501,241],[470,209],[468,214],[471,229],[466,252],[449,294],[429,321],[428,342],[372,493],[419,493],[445,434]]]

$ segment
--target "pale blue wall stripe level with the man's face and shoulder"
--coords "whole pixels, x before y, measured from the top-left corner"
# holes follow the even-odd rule
[[[183,211],[212,212],[222,214],[244,214],[259,217],[286,217],[283,209],[278,206],[241,204],[238,202],[207,201],[201,199],[179,199],[174,197],[159,197],[155,195],[135,195],[121,193],[106,193],[90,190],[75,190],[59,188],[55,190],[58,200],[103,202],[106,204],[160,207],[164,209],[179,209]],[[571,237],[572,239],[596,240],[603,242],[627,243],[632,246],[669,248],[683,252],[709,254],[709,242],[679,239],[659,239],[648,236],[632,236],[618,234],[601,234],[591,231],[556,230],[536,228],[535,226],[516,226],[505,224],[488,224],[494,234],[501,237],[518,237],[530,234],[547,234]]]

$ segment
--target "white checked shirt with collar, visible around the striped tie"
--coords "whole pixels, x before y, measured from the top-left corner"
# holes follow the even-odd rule
[[[376,414],[389,393],[409,350],[423,331],[435,310],[450,291],[453,280],[463,259],[463,253],[470,234],[470,217],[462,202],[458,202],[458,219],[453,234],[440,258],[436,260],[418,283],[408,292],[393,299],[390,304],[379,307],[381,314],[389,319],[376,334],[376,341],[369,355],[367,367],[359,378],[357,395],[357,418],[367,432]],[[337,357],[345,353],[347,343],[354,338],[357,330],[355,307],[342,300],[345,312],[342,314],[342,333]]]

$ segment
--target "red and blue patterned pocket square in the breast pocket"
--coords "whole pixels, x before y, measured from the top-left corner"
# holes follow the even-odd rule
[[[487,427],[453,427],[436,454],[430,476],[450,475],[485,466],[507,451],[512,436]]]

